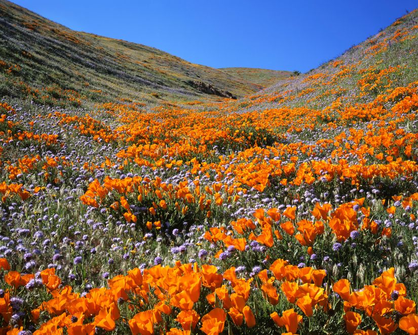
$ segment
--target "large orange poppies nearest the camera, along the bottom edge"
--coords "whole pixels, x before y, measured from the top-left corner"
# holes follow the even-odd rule
[[[0,259],[0,267],[4,271],[10,270],[4,258]],[[63,329],[68,334],[94,334],[96,327],[113,331],[120,322],[128,322],[133,334],[154,334],[156,327],[163,326],[160,329],[164,329],[164,315],[175,316],[182,327],[182,330],[165,329],[171,334],[189,334],[199,322],[205,334],[219,334],[228,316],[236,326],[242,326],[245,320],[246,326],[251,328],[256,324],[256,315],[248,305],[254,279],[269,304],[276,306],[279,303],[280,288],[288,303],[294,305],[283,311],[282,316],[277,312],[271,314],[274,322],[289,333],[296,333],[303,321],[303,316],[295,308],[306,317],[313,316],[315,311],[319,313],[322,309],[327,312],[330,309],[330,288],[322,287],[326,277],[324,270],[298,268],[283,259],[272,263],[270,271],[273,276],[270,277],[268,271],[263,270],[256,277],[246,280],[237,278],[235,270],[235,267],[231,267],[222,275],[213,265],[198,267],[196,263],[180,262],[174,267],[157,265],[144,270],[143,274],[139,269],[133,269],[126,276],[109,279],[108,288],[93,288],[81,296],[72,292],[70,286],[58,288],[61,280],[55,275],[55,269],[47,269],[40,276],[52,298],[32,309],[31,315],[35,323],[43,311],[50,315],[50,319],[41,324],[34,334],[62,333]],[[14,288],[26,285],[33,278],[33,275],[20,275],[16,271],[9,271],[5,275],[6,283]],[[223,284],[224,280],[231,286]],[[203,298],[212,306],[203,317],[194,309],[198,302],[202,304],[202,287],[211,291]],[[390,333],[398,326],[411,334],[418,329],[415,303],[405,297],[406,288],[402,283],[397,283],[393,268],[361,290],[351,290],[350,282],[346,279],[335,282],[332,290],[344,301],[344,320],[349,333],[374,333],[357,330],[362,321],[360,313],[372,318],[382,333]],[[126,320],[121,315],[121,300],[128,305],[128,310],[141,311]],[[5,322],[9,321],[12,314],[10,292],[0,298],[0,314]],[[396,315],[401,315],[401,318],[398,320]],[[91,321],[86,323],[87,319]],[[22,328],[10,330],[4,327],[2,331],[10,335],[16,329]]]

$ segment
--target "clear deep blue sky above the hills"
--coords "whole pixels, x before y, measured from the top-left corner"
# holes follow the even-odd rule
[[[15,0],[74,30],[188,61],[306,72],[374,35],[416,0]]]

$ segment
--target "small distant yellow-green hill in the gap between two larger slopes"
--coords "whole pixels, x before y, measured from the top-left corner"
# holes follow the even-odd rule
[[[263,88],[272,86],[278,81],[290,77],[292,72],[290,71],[275,71],[265,69],[253,69],[253,68],[221,68],[223,72],[230,74],[234,77],[239,77],[250,83],[261,85]]]

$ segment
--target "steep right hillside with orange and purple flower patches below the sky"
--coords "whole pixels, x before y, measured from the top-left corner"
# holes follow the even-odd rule
[[[342,105],[369,102],[390,87],[418,80],[417,49],[418,10],[414,10],[318,68],[232,102],[230,110],[321,110],[336,100]]]

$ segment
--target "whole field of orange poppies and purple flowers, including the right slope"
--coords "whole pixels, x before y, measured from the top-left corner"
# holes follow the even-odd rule
[[[415,10],[237,101],[22,84],[0,334],[418,334],[417,36]]]

